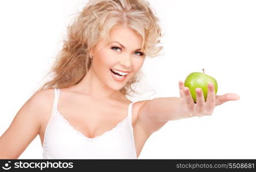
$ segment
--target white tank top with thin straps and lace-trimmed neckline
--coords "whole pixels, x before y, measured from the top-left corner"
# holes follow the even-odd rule
[[[55,98],[43,142],[43,159],[137,159],[134,145],[131,112],[112,130],[95,138],[88,138],[77,131],[57,109],[59,89],[54,88]]]

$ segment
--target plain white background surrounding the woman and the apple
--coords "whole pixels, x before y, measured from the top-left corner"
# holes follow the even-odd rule
[[[86,1],[0,1],[0,135],[42,84],[61,48],[71,14]],[[147,140],[141,159],[256,158],[256,1],[149,1],[161,20],[164,55],[142,67],[149,92],[132,101],[178,97],[191,72],[213,76],[218,95],[239,101],[212,116],[168,122]],[[142,82],[143,83],[143,82]],[[42,159],[39,136],[19,159]]]

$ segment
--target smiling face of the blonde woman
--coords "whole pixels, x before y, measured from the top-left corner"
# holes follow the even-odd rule
[[[133,30],[114,26],[110,31],[110,42],[101,40],[91,52],[92,72],[108,87],[121,89],[144,63],[145,54],[141,46],[142,37]],[[122,73],[114,74],[116,71]]]

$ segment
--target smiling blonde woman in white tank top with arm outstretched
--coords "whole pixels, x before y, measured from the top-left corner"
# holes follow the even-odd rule
[[[159,20],[144,0],[89,1],[69,26],[44,84],[0,138],[0,158],[18,158],[39,134],[43,158],[138,158],[149,136],[169,120],[211,115],[239,96],[216,96],[209,84],[197,103],[179,81],[180,97],[131,102],[145,57],[161,46]]]

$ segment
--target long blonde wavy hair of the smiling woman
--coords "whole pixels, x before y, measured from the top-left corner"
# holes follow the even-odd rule
[[[91,0],[77,14],[78,17],[67,26],[63,47],[47,73],[52,75],[52,79],[36,92],[78,84],[91,67],[90,50],[101,38],[109,39],[110,29],[115,25],[126,26],[138,33],[142,37],[142,50],[147,57],[156,57],[163,49],[163,46],[157,45],[161,37],[159,19],[145,0]],[[137,93],[131,85],[139,81],[140,72],[119,90],[123,95]]]

